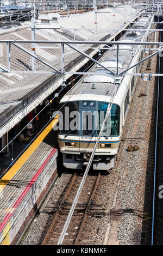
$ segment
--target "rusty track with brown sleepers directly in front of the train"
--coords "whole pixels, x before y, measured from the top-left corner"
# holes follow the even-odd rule
[[[64,227],[68,212],[70,211],[73,199],[77,193],[82,176],[75,173],[72,177],[71,184],[61,200],[58,210],[55,212],[53,221],[43,239],[42,245],[57,245],[62,228]],[[87,175],[79,202],[74,210],[70,225],[68,226],[63,245],[78,245],[84,223],[86,221],[87,212],[95,196],[101,174]]]

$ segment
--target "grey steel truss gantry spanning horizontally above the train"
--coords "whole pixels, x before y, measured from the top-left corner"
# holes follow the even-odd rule
[[[153,30],[154,31],[154,30]],[[162,29],[158,29],[158,31],[162,31]],[[65,66],[64,66],[64,48],[65,45],[70,47],[71,49],[73,49],[74,51],[82,54],[83,56],[85,56],[86,58],[92,60],[92,62],[98,64],[99,66],[101,66],[103,69],[105,69],[107,72],[110,72],[114,77],[115,77],[115,81],[117,81],[117,78],[121,78],[122,76],[126,76],[126,75],[135,75],[135,76],[142,76],[142,77],[151,77],[151,76],[163,76],[163,74],[143,74],[143,73],[131,73],[129,74],[128,71],[132,68],[134,68],[135,66],[139,65],[142,62],[145,62],[147,59],[152,58],[155,54],[159,54],[163,51],[163,44],[162,42],[121,42],[121,41],[39,41],[39,40],[0,40],[0,44],[1,43],[5,43],[7,46],[7,62],[8,62],[8,68],[4,67],[3,65],[1,65],[0,62],[0,73],[27,73],[27,74],[36,74],[36,73],[40,73],[40,74],[62,74],[63,76],[66,74],[75,74],[75,75],[87,75],[87,74],[95,74],[93,72],[72,72],[72,71],[65,71]],[[35,53],[33,53],[32,51],[27,50],[27,48],[23,47],[21,44],[32,44],[32,45],[41,45],[41,44],[58,44],[60,45],[61,48],[61,70],[58,70],[56,68],[54,68],[54,66],[52,66],[51,64],[49,64],[48,62],[45,62],[45,60],[41,59],[40,57],[37,57]],[[88,54],[86,54],[84,51],[82,51],[79,47],[74,46],[74,44],[78,44],[78,45],[103,45],[103,46],[112,46],[115,45],[116,47],[116,51],[117,51],[117,68],[116,71],[112,71],[108,68],[106,68],[102,63],[98,62],[96,59],[90,57]],[[42,62],[43,64],[45,64],[46,66],[48,66],[51,70],[49,71],[43,71],[43,70],[31,70],[31,71],[18,71],[18,70],[11,70],[10,69],[10,62],[11,62],[11,46],[14,45],[17,48],[19,48],[20,50],[22,50],[23,52],[26,52],[27,54],[29,54],[30,57],[33,57],[36,60],[39,60],[40,62]],[[151,50],[155,51],[154,53],[150,54],[149,56],[143,58],[142,60],[140,60],[140,62],[137,62],[135,65],[130,66],[128,69],[122,71],[122,72],[118,72],[118,57],[119,57],[119,47],[120,45],[141,45],[142,47],[139,48],[137,51],[141,51],[143,50],[145,53],[149,53]],[[146,47],[143,47],[146,46]],[[147,48],[147,46],[158,46],[158,48]],[[48,46],[47,46],[48,47]],[[102,47],[98,47],[97,48],[102,50]],[[110,47],[105,49],[110,49]],[[135,56],[136,53],[132,53],[133,57]]]

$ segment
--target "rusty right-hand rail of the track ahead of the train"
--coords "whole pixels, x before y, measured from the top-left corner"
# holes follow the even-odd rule
[[[96,189],[97,189],[98,182],[99,182],[99,179],[100,179],[100,178],[101,178],[101,174],[98,173],[95,186],[93,187],[91,197],[90,197],[90,199],[89,199],[89,202],[87,203],[87,207],[86,207],[86,210],[85,210],[85,213],[84,213],[82,222],[81,222],[81,224],[80,224],[80,227],[79,227],[79,230],[78,230],[78,234],[77,234],[77,236],[76,236],[76,240],[74,241],[73,245],[78,245],[78,242],[79,242],[79,239],[80,239],[80,236],[81,236],[81,234],[82,234],[83,227],[84,227],[84,223],[85,223],[85,221],[86,221],[87,211],[88,211],[89,206],[90,206],[90,204],[91,204],[91,202],[92,202],[92,199],[93,199],[93,197],[94,197],[94,195],[95,195],[95,192],[96,192]]]

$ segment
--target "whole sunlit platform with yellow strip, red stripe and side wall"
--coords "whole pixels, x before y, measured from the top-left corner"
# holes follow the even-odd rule
[[[57,135],[46,126],[0,180],[0,244],[15,245],[57,176]]]

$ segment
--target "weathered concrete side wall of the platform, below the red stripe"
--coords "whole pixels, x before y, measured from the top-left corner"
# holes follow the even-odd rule
[[[5,216],[4,227],[0,233],[1,245],[15,245],[23,231],[39,208],[40,202],[57,175],[58,150],[54,150],[51,159],[45,161],[45,168],[37,170],[30,182],[15,204]]]

